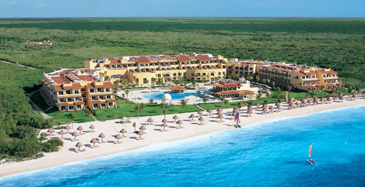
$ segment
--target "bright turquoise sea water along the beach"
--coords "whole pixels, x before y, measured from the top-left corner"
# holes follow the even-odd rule
[[[360,106],[262,122],[7,176],[0,186],[365,186],[364,114]],[[306,161],[312,143],[318,165]]]

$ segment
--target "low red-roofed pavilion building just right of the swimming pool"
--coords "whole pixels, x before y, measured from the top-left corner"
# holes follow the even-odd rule
[[[211,95],[218,98],[239,98],[242,100],[252,99],[258,92],[258,87],[250,85],[250,81],[239,78],[239,81],[232,79],[220,79],[210,90]]]

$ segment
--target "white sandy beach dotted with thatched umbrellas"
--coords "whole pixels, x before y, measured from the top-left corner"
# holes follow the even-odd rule
[[[269,104],[268,106],[273,105],[274,104]],[[261,108],[257,109],[256,106],[253,106],[253,114],[251,114],[251,117],[247,117],[248,114],[246,114],[246,106],[242,107],[239,124],[241,126],[246,126],[258,122],[264,122],[267,120],[296,117],[311,113],[323,112],[326,110],[365,105],[365,99],[361,94],[359,94],[358,99],[355,101],[353,101],[350,96],[346,96],[343,102],[339,102],[338,100],[332,100],[330,104],[327,104],[327,102],[325,102],[318,105],[311,104],[309,106],[299,106],[293,109],[289,109],[287,105],[288,104],[286,102],[283,103],[281,105],[282,110],[280,110],[280,112],[277,112],[277,109],[275,109],[272,113],[270,113],[269,110],[268,112],[266,112],[266,114],[262,113]],[[130,118],[131,122],[126,124],[119,123],[120,119],[104,122],[98,121],[85,122],[80,124],[74,123],[73,129],[69,130],[70,133],[64,135],[64,146],[58,152],[45,153],[45,156],[39,159],[0,164],[0,177],[32,170],[55,167],[73,161],[92,159],[132,149],[138,149],[147,145],[160,142],[186,139],[189,137],[200,136],[207,133],[235,129],[233,116],[231,116],[232,108],[223,109],[222,113],[224,118],[222,119],[222,122],[220,122],[219,119],[216,118],[217,115],[215,113],[216,112],[214,110],[211,115],[208,115],[207,111],[203,111],[203,114],[201,116],[204,119],[204,125],[199,125],[199,114],[197,114],[196,112],[194,113],[194,115],[197,117],[195,117],[193,121],[191,120],[191,118],[189,118],[192,113],[168,114],[166,115],[166,119],[168,120],[166,124],[168,126],[165,128],[167,131],[162,131],[162,129],[164,129],[164,127],[161,127],[161,121],[164,119],[163,115],[151,116],[153,118],[153,122],[151,122],[152,125],[149,125],[150,122],[147,121],[150,116],[139,118],[133,117]],[[175,115],[177,115],[178,120],[183,121],[183,124],[181,124],[181,126],[183,126],[184,128],[176,128],[176,126],[178,125],[173,119],[173,116]],[[145,134],[142,135],[142,137],[144,138],[143,140],[137,140],[139,135],[133,133],[133,122],[136,122],[137,124],[136,130],[139,130],[141,125],[144,125],[146,127],[146,130],[144,130]],[[71,124],[69,125],[71,126]],[[91,130],[89,129],[89,126],[91,125],[95,126],[95,132],[87,133],[87,131]],[[71,139],[74,139],[74,136],[72,136],[71,133],[75,131],[79,132],[78,130],[76,130],[78,126],[82,126],[84,128],[84,130],[81,130],[81,132],[84,133],[76,137],[78,141],[71,141]],[[115,139],[115,136],[118,134],[122,135],[122,133],[119,133],[122,128],[127,130],[127,133],[124,133],[126,137],[119,140],[119,142],[122,143],[115,144],[115,141],[117,141],[117,139]],[[59,131],[60,130],[55,130],[54,135],[48,136],[48,138],[57,139],[61,137],[61,135],[58,135]],[[41,130],[41,132],[47,132],[47,129]],[[90,141],[93,138],[101,140],[101,138],[98,137],[100,133],[104,133],[104,140],[106,140],[106,142],[96,143],[95,145],[97,145],[98,147],[91,148],[91,145],[93,144],[90,143]],[[75,147],[78,142],[81,142],[84,145],[83,147],[81,147],[81,149],[85,149],[85,151],[75,152],[75,150],[78,149],[77,147]]]

